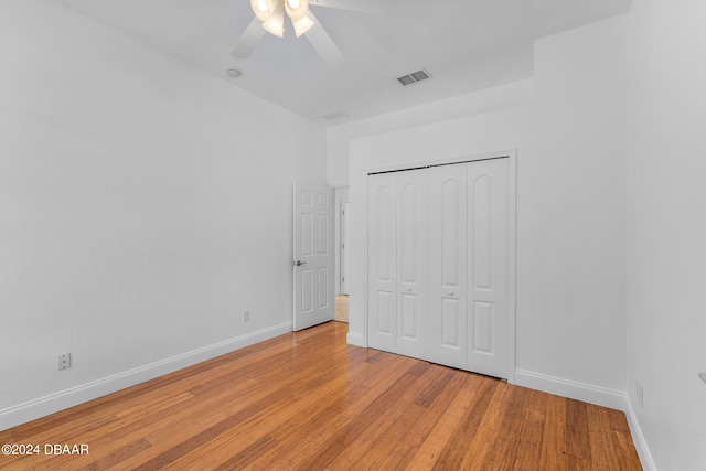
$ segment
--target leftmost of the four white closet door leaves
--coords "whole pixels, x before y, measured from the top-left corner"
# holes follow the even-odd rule
[[[368,202],[368,344],[397,351],[397,204],[395,175],[370,175]]]

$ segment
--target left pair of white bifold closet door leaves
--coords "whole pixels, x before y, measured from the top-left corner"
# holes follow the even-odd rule
[[[382,173],[370,185],[368,277],[374,346],[424,357],[428,321],[427,173]],[[374,185],[373,185],[374,184]]]

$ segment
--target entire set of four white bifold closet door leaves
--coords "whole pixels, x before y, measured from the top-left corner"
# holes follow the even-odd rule
[[[368,175],[368,345],[507,377],[509,159]]]

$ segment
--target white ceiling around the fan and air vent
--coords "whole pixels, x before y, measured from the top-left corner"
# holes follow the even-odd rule
[[[253,20],[249,0],[56,1],[323,126],[530,77],[534,40],[630,9],[630,0],[368,0],[381,7],[374,14],[312,6],[345,57],[327,67],[291,31],[267,34],[249,58],[231,56]],[[395,78],[420,68],[432,78],[408,87]],[[335,111],[350,116],[322,118]]]

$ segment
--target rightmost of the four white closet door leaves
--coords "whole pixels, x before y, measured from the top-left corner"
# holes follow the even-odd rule
[[[507,377],[507,159],[468,164],[468,368]]]

